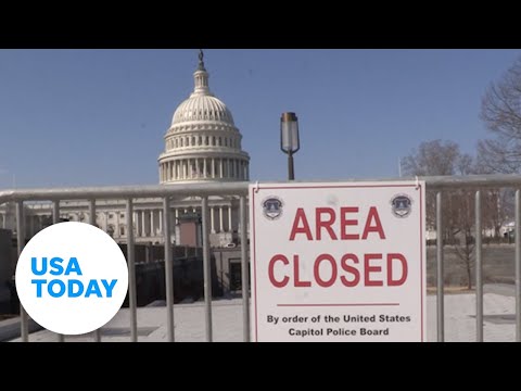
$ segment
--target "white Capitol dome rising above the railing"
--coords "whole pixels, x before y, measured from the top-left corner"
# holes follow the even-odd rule
[[[160,182],[249,180],[250,156],[226,104],[208,87],[200,54],[194,90],[174,113],[160,155]]]

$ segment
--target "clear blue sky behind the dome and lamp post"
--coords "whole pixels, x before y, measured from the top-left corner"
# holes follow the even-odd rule
[[[398,157],[443,139],[474,153],[481,98],[521,50],[205,51],[252,180],[283,180],[280,114],[301,127],[295,176],[393,178]],[[198,51],[0,50],[0,189],[154,185]]]

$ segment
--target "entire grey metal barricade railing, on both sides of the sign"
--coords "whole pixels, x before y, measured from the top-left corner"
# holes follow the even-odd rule
[[[409,180],[414,178],[381,179],[381,180]],[[435,226],[436,231],[443,231],[443,204],[442,194],[444,191],[468,189],[474,191],[475,197],[475,231],[481,232],[482,228],[482,190],[493,188],[513,188],[517,189],[514,197],[514,218],[516,218],[516,244],[514,244],[514,265],[516,265],[516,341],[521,342],[521,176],[519,175],[476,175],[460,177],[418,177],[424,180],[428,191],[436,192],[435,197]],[[317,180],[318,181],[318,180]],[[344,180],[343,180],[344,181]],[[366,180],[356,180],[366,181]],[[368,179],[369,181],[369,179]],[[370,181],[378,181],[371,179]],[[18,242],[18,255],[23,250],[24,243],[24,202],[27,201],[53,201],[53,222],[59,220],[60,201],[62,200],[87,200],[90,210],[90,224],[93,224],[96,216],[97,200],[126,200],[127,215],[127,244],[128,244],[128,270],[129,270],[129,311],[130,311],[130,340],[138,341],[137,332],[137,301],[136,301],[136,275],[135,275],[135,237],[134,237],[134,200],[147,198],[163,199],[163,234],[165,240],[165,286],[166,286],[166,317],[168,341],[175,341],[174,332],[174,278],[171,265],[171,222],[169,218],[169,207],[171,200],[180,200],[187,197],[198,197],[201,199],[202,224],[203,224],[203,270],[204,270],[204,300],[205,300],[205,330],[206,341],[213,340],[212,324],[212,279],[211,279],[211,251],[209,251],[209,226],[208,226],[208,197],[212,195],[231,195],[240,199],[240,240],[241,243],[247,243],[247,197],[249,182],[218,182],[218,184],[185,184],[171,186],[142,186],[142,187],[105,187],[105,188],[72,188],[72,189],[40,189],[40,190],[12,190],[0,192],[0,205],[5,202],[16,203],[16,230]],[[242,300],[243,300],[243,341],[250,341],[250,302],[249,302],[249,260],[247,249],[241,247],[242,264]],[[437,341],[445,340],[445,308],[444,308],[444,243],[443,240],[436,240],[436,278],[437,278]],[[481,235],[476,235],[475,240],[475,294],[476,294],[476,341],[483,341],[483,256]],[[28,341],[28,321],[27,314],[21,306],[21,336],[23,341]],[[96,340],[100,341],[99,330],[94,335]],[[63,341],[63,336],[59,336]]]

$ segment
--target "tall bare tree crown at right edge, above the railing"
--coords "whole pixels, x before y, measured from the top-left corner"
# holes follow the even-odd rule
[[[521,169],[521,58],[486,90],[481,118],[494,139],[478,144],[480,164],[490,173]]]

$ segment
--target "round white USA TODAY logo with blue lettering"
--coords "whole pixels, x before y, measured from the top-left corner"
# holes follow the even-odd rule
[[[62,335],[99,329],[119,311],[128,268],[116,242],[84,223],[61,223],[37,234],[16,265],[16,290],[27,314]]]

